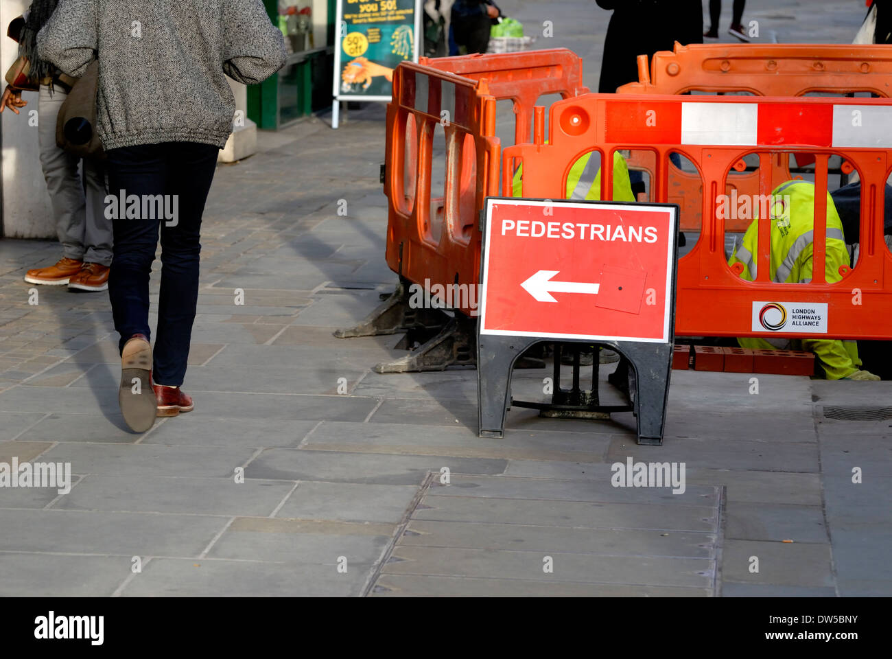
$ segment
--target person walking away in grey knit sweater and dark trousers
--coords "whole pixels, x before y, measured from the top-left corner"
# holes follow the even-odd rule
[[[285,40],[260,0],[61,0],[37,46],[74,77],[99,60],[95,128],[108,156],[118,397],[124,421],[142,432],[156,416],[194,408],[180,386],[198,299],[202,213],[235,114],[225,76],[249,85],[267,79],[285,64]],[[159,225],[153,350],[149,274]]]

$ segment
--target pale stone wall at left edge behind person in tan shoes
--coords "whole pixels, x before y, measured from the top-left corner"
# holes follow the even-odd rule
[[[0,2],[0,71],[3,75],[18,54],[18,45],[6,37],[6,28],[29,4],[27,0]],[[5,88],[5,81],[3,86]],[[7,109],[0,115],[2,235],[4,238],[55,238],[55,219],[46,193],[44,172],[40,169],[37,126],[28,125],[29,111],[37,110],[37,93],[25,92],[22,97],[28,105],[21,109],[21,114]]]

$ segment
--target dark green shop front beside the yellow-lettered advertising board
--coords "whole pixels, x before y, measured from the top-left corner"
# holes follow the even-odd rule
[[[278,0],[263,0],[269,20],[278,24]],[[288,55],[285,67],[260,85],[248,87],[248,118],[265,130],[278,130],[331,105],[335,65],[335,0],[327,6],[328,46]],[[322,92],[325,93],[322,93]]]

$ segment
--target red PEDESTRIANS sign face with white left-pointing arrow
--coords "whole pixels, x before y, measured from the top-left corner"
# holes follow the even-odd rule
[[[480,334],[671,343],[678,206],[488,197]]]

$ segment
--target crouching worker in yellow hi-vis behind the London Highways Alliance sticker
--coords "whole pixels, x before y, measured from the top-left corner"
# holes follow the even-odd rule
[[[774,188],[772,199],[789,197],[786,204],[772,204],[771,209],[771,279],[777,283],[805,284],[812,280],[812,252],[814,250],[814,184],[790,180]],[[775,216],[778,213],[778,216]],[[755,213],[754,213],[755,214]],[[753,221],[743,236],[729,264],[742,263],[740,277],[756,279],[756,239],[758,220]],[[842,223],[833,199],[827,195],[827,242],[824,274],[832,284],[842,275],[839,266],[849,265]],[[786,349],[813,352],[827,380],[880,380],[876,375],[861,370],[855,341],[828,338],[738,338],[741,347],[754,349]]]

